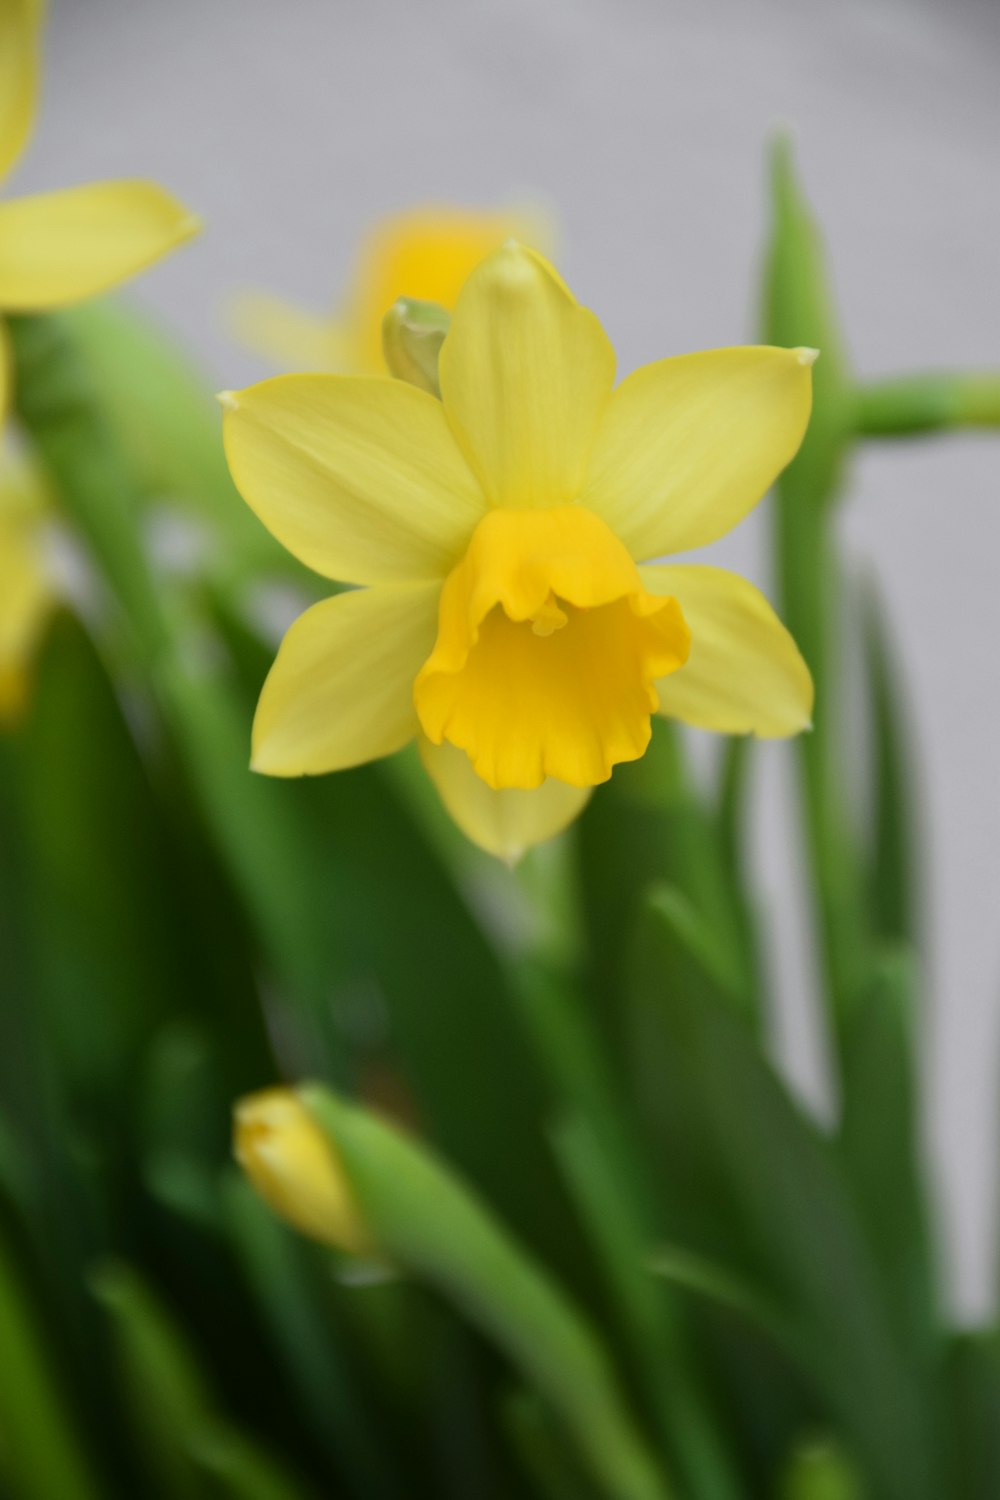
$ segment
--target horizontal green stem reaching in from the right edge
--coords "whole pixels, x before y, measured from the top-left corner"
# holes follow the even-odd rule
[[[856,392],[862,438],[910,438],[955,428],[1000,428],[1000,374],[904,375]]]

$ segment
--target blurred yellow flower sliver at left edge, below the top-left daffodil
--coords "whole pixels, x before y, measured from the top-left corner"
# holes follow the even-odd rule
[[[9,453],[0,458],[0,728],[27,702],[30,666],[52,592],[42,558],[46,496],[40,478]]]

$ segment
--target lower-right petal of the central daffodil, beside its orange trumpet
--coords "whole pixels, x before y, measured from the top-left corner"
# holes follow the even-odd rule
[[[673,596],[691,654],[657,682],[660,712],[699,729],[780,740],[808,729],[813,678],[760,590],[718,567],[640,567],[643,588]]]

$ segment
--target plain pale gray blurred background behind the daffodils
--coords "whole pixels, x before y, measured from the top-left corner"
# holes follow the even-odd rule
[[[54,0],[15,190],[160,178],[204,237],[132,296],[217,386],[240,286],[315,308],[372,218],[537,196],[619,368],[754,333],[765,142],[793,128],[856,368],[1000,366],[1000,4]],[[928,844],[928,1142],[964,1316],[991,1298],[1000,1068],[1000,435],[868,450],[843,528],[888,598]],[[718,560],[768,586],[765,518]],[[829,1107],[796,936],[789,760],[760,756],[777,1048]]]

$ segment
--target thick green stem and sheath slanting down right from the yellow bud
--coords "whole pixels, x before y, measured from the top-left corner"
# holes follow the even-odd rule
[[[382,1252],[504,1350],[609,1497],[667,1500],[672,1486],[624,1406],[607,1353],[559,1286],[414,1140],[328,1090],[307,1088],[301,1098]]]

